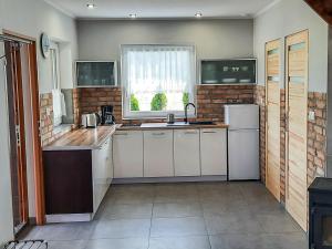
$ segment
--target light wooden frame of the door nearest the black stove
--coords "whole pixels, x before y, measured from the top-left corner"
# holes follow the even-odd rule
[[[284,38],[284,92],[286,92],[286,142],[284,142],[284,147],[286,147],[286,162],[284,162],[284,166],[286,166],[286,173],[284,173],[284,177],[286,177],[286,191],[284,191],[284,206],[288,209],[288,199],[289,199],[289,63],[288,63],[288,54],[289,54],[289,50],[288,50],[288,38],[300,34],[305,32],[307,34],[307,44],[305,44],[305,49],[307,49],[307,54],[308,54],[308,60],[307,60],[307,74],[305,74],[305,83],[304,83],[304,93],[305,93],[305,110],[307,110],[307,139],[305,139],[305,148],[307,148],[307,187],[308,187],[308,90],[309,90],[309,30],[301,30],[298,31],[295,33],[289,34]],[[308,200],[307,200],[308,203]],[[307,207],[308,208],[308,207]],[[308,217],[307,217],[308,219]],[[308,229],[308,227],[307,227]]]

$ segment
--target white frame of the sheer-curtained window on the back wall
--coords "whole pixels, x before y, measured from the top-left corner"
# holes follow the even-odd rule
[[[127,91],[127,85],[124,80],[124,48],[127,46],[191,46],[194,54],[193,54],[193,66],[194,66],[194,72],[193,72],[193,90],[191,94],[189,93],[189,102],[194,103],[197,108],[197,53],[196,53],[196,46],[193,44],[122,44],[121,45],[121,87],[122,87],[122,115],[123,120],[153,120],[153,118],[158,118],[158,120],[166,120],[167,114],[172,113],[175,115],[176,118],[184,118],[185,117],[185,110],[183,111],[139,111],[139,112],[132,112],[131,111],[131,96]],[[188,117],[190,118],[196,118],[197,117],[197,110],[196,112],[194,110],[188,110]]]

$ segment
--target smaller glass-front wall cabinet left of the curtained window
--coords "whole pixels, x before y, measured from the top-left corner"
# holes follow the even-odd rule
[[[116,86],[117,69],[115,61],[77,61],[77,87],[107,87]]]

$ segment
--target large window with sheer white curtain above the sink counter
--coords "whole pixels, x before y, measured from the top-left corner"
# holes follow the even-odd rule
[[[195,61],[194,46],[123,45],[124,117],[184,116],[194,102]]]

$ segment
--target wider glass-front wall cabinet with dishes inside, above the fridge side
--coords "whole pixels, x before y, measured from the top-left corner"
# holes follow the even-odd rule
[[[256,84],[256,59],[203,60],[201,84]]]

